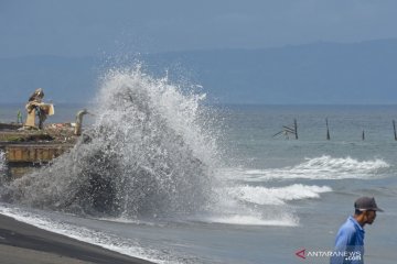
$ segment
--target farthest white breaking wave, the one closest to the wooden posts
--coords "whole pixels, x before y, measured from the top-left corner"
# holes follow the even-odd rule
[[[380,169],[390,165],[383,160],[358,161],[352,157],[335,158],[328,155],[307,158],[304,163],[291,167],[272,169],[249,169],[242,174],[244,180],[262,182],[272,179],[344,179],[373,178]]]

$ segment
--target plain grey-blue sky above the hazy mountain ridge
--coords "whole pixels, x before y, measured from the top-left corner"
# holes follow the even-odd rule
[[[0,57],[396,38],[395,0],[0,0]]]

